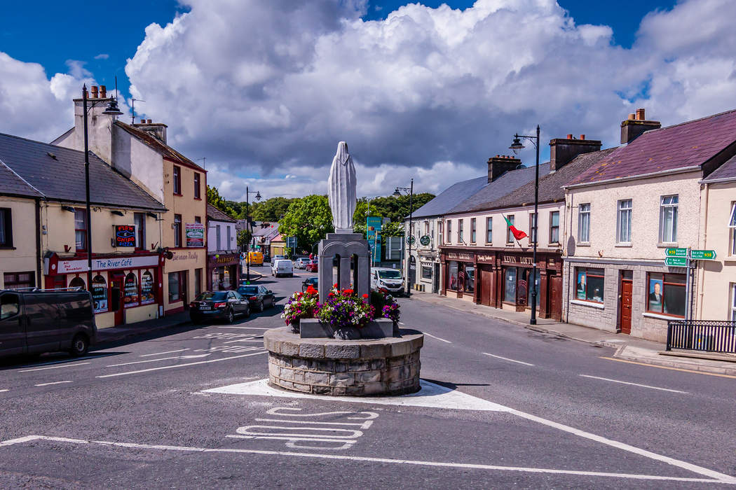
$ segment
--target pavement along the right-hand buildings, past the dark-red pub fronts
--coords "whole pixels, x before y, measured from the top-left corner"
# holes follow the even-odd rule
[[[553,334],[566,339],[587,342],[593,345],[614,347],[614,357],[621,361],[630,361],[643,364],[654,364],[662,367],[671,367],[678,370],[710,372],[717,375],[736,376],[736,356],[708,355],[703,356],[729,359],[732,361],[720,361],[715,359],[701,359],[701,354],[694,352],[665,353],[665,345],[650,340],[637,339],[626,334],[613,334],[597,328],[588,328],[572,323],[561,323],[551,318],[537,318],[537,325],[529,325],[529,313],[526,311],[506,311],[490,306],[476,305],[470,301],[447,298],[429,292],[411,292],[411,299],[424,301],[435,305],[445,306],[460,311],[467,311],[494,320],[503,320],[514,323],[530,330]]]

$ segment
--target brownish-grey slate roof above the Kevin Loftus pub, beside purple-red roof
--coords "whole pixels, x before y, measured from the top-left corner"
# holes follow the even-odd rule
[[[542,177],[542,168],[539,166],[539,202],[549,203],[565,201],[565,189],[563,186],[570,184],[570,181],[576,179],[582,172],[593,167],[601,159],[606,158],[615,151],[615,148],[608,148],[601,151],[591,151],[576,156],[571,162],[563,165],[559,170],[548,173]],[[534,178],[528,184],[519,187],[514,192],[504,195],[502,198],[487,203],[484,206],[476,206],[472,211],[481,211],[482,209],[498,209],[513,206],[528,206],[534,204]]]

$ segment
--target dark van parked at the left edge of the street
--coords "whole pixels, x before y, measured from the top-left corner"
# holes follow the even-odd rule
[[[83,356],[97,326],[87,291],[0,290],[0,356],[68,350]]]

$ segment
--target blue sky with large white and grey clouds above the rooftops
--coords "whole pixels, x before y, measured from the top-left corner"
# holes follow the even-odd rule
[[[548,156],[568,133],[617,145],[637,107],[664,125],[736,107],[732,0],[63,3],[3,7],[0,132],[50,141],[82,83],[117,76],[124,110],[143,100],[236,200],[326,192],[340,140],[360,195],[439,192],[537,123]]]

